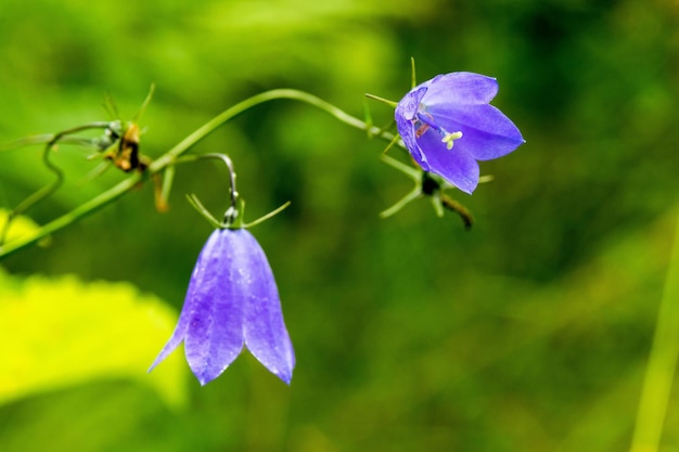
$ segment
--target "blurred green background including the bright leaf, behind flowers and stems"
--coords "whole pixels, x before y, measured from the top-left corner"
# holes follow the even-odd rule
[[[380,163],[383,142],[290,101],[247,112],[195,152],[231,155],[249,219],[292,201],[253,230],[295,345],[292,387],[246,353],[202,388],[181,357],[145,374],[210,232],[184,194],[227,203],[222,167],[182,166],[167,214],[146,184],[2,261],[0,450],[628,449],[677,212],[678,18],[674,0],[3,0],[0,142],[112,119],[106,93],[131,118],[152,82],[151,157],[272,88],[360,117],[364,92],[409,89],[413,56],[420,81],[497,77],[494,104],[527,144],[456,195],[477,221],[465,232],[426,201],[377,218],[411,189]],[[51,180],[40,152],[0,153],[2,207]],[[35,221],[125,177],[88,181],[87,155],[61,147],[67,183]],[[81,312],[75,324],[102,327],[50,330]],[[38,349],[49,362],[20,353]],[[661,450],[679,451],[668,402]]]

